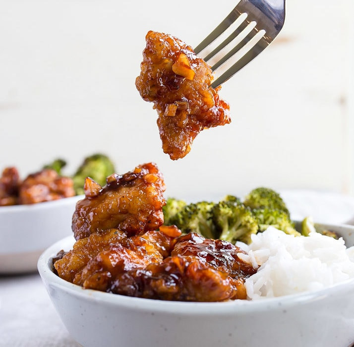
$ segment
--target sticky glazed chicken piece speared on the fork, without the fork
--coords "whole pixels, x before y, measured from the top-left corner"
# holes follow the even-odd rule
[[[145,101],[154,103],[163,151],[183,158],[196,135],[230,123],[229,104],[213,89],[210,66],[193,49],[171,35],[149,31],[141,73],[135,85]]]

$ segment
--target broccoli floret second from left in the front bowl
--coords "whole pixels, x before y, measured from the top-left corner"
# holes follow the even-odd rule
[[[207,238],[215,238],[215,228],[211,218],[214,203],[201,201],[184,206],[170,218],[169,224],[176,225],[183,233],[197,232]]]

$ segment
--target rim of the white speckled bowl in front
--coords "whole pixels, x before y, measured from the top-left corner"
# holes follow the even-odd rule
[[[344,225],[343,225],[344,227]],[[347,226],[346,226],[347,227]],[[351,226],[348,226],[350,230]],[[354,230],[354,227],[353,227]],[[125,307],[139,311],[169,312],[171,314],[230,314],[235,315],[242,312],[262,312],[269,310],[284,310],[293,306],[308,304],[313,301],[323,300],[334,295],[343,295],[349,291],[354,291],[354,279],[349,279],[331,287],[302,292],[280,297],[261,298],[257,300],[230,300],[224,302],[187,302],[187,301],[167,301],[131,297],[120,294],[103,292],[95,289],[83,289],[61,279],[53,272],[52,259],[63,247],[70,243],[72,247],[75,239],[73,236],[62,238],[49,248],[47,248],[38,260],[38,271],[46,287],[54,287],[66,292],[76,298],[98,302],[107,306]],[[51,290],[48,290],[52,293]],[[50,294],[51,295],[51,294]]]

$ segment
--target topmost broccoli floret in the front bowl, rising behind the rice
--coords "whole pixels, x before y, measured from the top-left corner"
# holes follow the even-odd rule
[[[268,208],[285,212],[290,218],[290,213],[281,196],[270,188],[259,187],[253,189],[245,197],[243,204],[250,209]]]

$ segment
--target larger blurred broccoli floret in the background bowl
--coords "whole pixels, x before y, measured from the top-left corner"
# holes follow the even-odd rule
[[[103,186],[106,184],[106,177],[114,172],[115,167],[113,162],[104,154],[94,154],[85,158],[84,162],[72,177],[76,194],[84,193],[86,177],[91,177]]]

